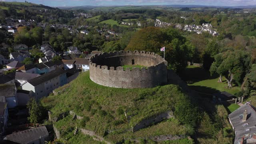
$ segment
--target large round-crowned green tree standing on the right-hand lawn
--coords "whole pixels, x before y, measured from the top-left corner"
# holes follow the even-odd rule
[[[224,76],[228,82],[228,88],[232,88],[233,80],[241,84],[244,76],[250,69],[250,53],[243,50],[228,50],[215,56],[215,62],[210,68],[211,74],[218,73]]]

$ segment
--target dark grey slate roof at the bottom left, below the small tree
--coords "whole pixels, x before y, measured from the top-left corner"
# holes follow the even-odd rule
[[[21,132],[16,132],[14,134],[9,134],[6,136],[6,140],[12,142],[18,142],[20,144],[28,144],[35,140],[38,140],[41,137],[48,136],[48,131],[45,126],[40,126],[37,128],[32,128],[29,130],[24,130]]]

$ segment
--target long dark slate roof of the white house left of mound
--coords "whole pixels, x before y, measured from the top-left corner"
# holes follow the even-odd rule
[[[33,78],[31,80],[28,80],[27,82],[32,84],[32,86],[38,86],[39,84],[42,84],[48,80],[51,80],[52,78],[55,78],[57,76],[60,76],[61,74],[66,73],[65,70],[62,68],[57,68],[56,70],[53,70],[51,72],[48,72],[46,74],[43,74],[41,76],[38,76],[36,78]]]

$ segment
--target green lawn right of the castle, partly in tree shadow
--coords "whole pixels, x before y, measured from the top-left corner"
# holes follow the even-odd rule
[[[216,92],[226,91],[231,94],[236,94],[240,91],[240,87],[233,84],[233,88],[227,88],[226,79],[222,78],[222,83],[218,83],[218,75],[211,76],[210,72],[202,67],[188,66],[180,75],[181,78],[188,83],[190,88],[198,92],[213,94]]]

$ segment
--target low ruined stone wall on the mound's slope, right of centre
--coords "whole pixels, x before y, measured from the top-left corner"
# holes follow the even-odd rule
[[[142,128],[146,128],[150,125],[152,125],[152,123],[157,123],[157,122],[161,122],[164,119],[169,119],[173,117],[173,113],[172,111],[167,111],[167,112],[163,112],[161,114],[158,114],[157,116],[152,116],[151,118],[147,118],[142,120],[141,122],[139,122],[138,124],[136,124],[133,128],[132,128],[132,132],[136,132]]]

